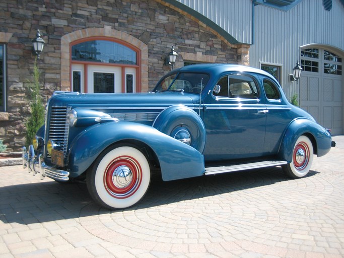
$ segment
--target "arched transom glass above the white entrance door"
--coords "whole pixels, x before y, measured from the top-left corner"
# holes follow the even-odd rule
[[[72,60],[137,64],[134,50],[107,40],[91,40],[73,45]]]

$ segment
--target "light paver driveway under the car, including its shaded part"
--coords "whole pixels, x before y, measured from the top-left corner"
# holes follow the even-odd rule
[[[107,211],[84,184],[0,168],[2,257],[343,257],[344,136],[289,179],[281,168],[163,182]]]

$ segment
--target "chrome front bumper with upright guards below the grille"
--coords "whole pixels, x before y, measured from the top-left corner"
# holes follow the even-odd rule
[[[39,173],[41,175],[41,179],[44,179],[44,177],[47,176],[56,181],[65,182],[69,180],[68,176],[70,175],[70,172],[47,166],[43,161],[42,154],[39,154],[38,156],[35,155],[35,150],[32,145],[29,146],[28,151],[23,147],[22,157],[23,168],[27,168],[28,172],[33,175]]]

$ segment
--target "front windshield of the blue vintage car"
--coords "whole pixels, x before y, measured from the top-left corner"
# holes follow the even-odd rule
[[[209,75],[199,73],[179,73],[163,78],[155,87],[155,92],[183,91],[200,93],[209,81]]]

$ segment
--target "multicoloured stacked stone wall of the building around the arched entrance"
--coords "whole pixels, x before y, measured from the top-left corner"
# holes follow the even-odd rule
[[[170,69],[165,58],[174,45],[183,61],[247,64],[248,47],[234,46],[211,28],[163,0],[0,0],[0,42],[7,43],[7,112],[0,112],[0,139],[8,151],[25,144],[24,121],[30,115],[28,86],[35,56],[31,40],[40,29],[46,45],[38,60],[41,95],[46,102],[61,90],[61,38],[90,28],[112,29],[143,42],[147,78],[142,89],[152,89]],[[65,56],[64,56],[65,57]],[[67,82],[68,83],[68,82]],[[62,87],[63,90],[68,88]]]

